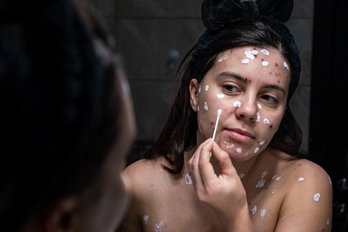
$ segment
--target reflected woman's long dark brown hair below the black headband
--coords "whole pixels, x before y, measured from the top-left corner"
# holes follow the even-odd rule
[[[168,120],[152,148],[146,151],[145,158],[154,159],[163,156],[171,164],[171,167],[164,167],[166,170],[173,174],[178,174],[183,170],[184,152],[196,146],[198,129],[197,113],[193,111],[189,101],[189,83],[193,78],[200,83],[215,64],[219,53],[244,45],[274,47],[286,59],[289,55],[289,52],[282,46],[280,36],[271,27],[256,21],[242,23],[209,44],[205,55],[200,57],[202,62],[200,62],[199,67],[193,67],[190,62],[195,49],[193,47],[181,62],[176,73],[174,103],[170,109]],[[193,69],[195,69],[194,76],[192,75]],[[306,157],[306,152],[301,149],[302,131],[291,112],[289,101],[288,98],[287,109],[280,123],[280,128],[273,136],[269,146],[293,157]]]

